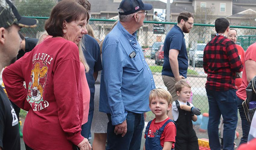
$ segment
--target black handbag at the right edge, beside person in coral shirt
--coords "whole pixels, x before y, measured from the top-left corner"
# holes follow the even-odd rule
[[[256,110],[256,76],[254,76],[246,87],[246,99],[242,106],[245,111],[247,121],[251,124],[252,117]]]

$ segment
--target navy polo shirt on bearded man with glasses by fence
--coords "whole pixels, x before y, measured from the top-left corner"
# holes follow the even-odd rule
[[[177,49],[180,51],[178,55],[179,73],[181,76],[187,78],[189,64],[186,42],[183,31],[177,25],[174,25],[164,40],[164,64],[162,70],[162,75],[174,77],[169,61],[170,49]]]

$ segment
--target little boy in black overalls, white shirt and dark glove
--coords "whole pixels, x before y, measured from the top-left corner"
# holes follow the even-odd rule
[[[192,120],[197,120],[200,109],[190,104],[189,98],[191,86],[186,81],[179,81],[175,84],[178,100],[173,102],[173,120],[177,125],[177,136],[175,150],[198,150],[198,139],[193,129]]]

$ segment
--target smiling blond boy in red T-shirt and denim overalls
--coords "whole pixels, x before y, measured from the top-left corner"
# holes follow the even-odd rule
[[[148,122],[145,131],[144,150],[170,150],[174,148],[176,125],[167,114],[172,107],[172,96],[167,90],[150,91],[149,107],[155,119]]]

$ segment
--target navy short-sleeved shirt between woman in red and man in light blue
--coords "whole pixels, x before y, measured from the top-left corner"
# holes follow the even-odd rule
[[[95,79],[93,78],[93,73],[96,71],[102,70],[101,65],[101,56],[100,56],[100,46],[98,42],[89,35],[84,35],[83,43],[85,49],[83,53],[86,59],[87,64],[90,67],[88,73],[86,73],[86,79],[90,88],[90,107],[89,113],[92,113],[94,110],[94,93],[95,93]]]

